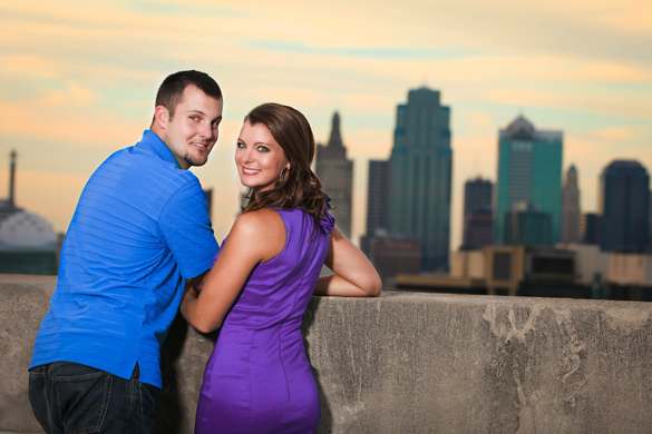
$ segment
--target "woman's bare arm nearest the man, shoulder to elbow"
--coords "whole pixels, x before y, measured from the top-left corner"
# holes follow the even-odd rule
[[[220,328],[253,268],[283,251],[285,238],[283,219],[272,209],[240,216],[201,293],[193,285],[185,293],[181,304],[184,318],[203,333]]]

